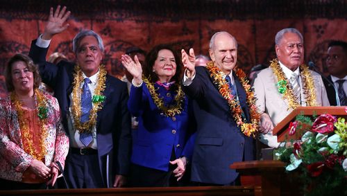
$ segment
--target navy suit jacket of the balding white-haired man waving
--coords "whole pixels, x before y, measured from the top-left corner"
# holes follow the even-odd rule
[[[246,93],[234,73],[239,102],[249,121]],[[237,172],[229,168],[231,163],[251,161],[255,148],[252,137],[244,136],[237,127],[228,102],[212,83],[208,69],[196,67],[196,76],[189,86],[183,86],[189,98],[194,100],[196,141],[192,157],[192,181],[208,184],[230,184]]]

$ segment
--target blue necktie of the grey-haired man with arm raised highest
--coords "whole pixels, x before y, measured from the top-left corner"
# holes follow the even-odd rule
[[[89,120],[90,110],[92,109],[92,93],[88,87],[91,83],[89,78],[85,78],[85,84],[83,84],[83,92],[81,94],[81,123],[85,123]],[[88,146],[93,141],[92,133],[83,132],[80,134],[80,141],[83,145]]]

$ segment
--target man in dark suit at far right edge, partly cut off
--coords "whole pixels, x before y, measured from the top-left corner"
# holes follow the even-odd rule
[[[330,105],[347,105],[347,42],[332,41],[328,45],[328,81],[324,81]],[[332,86],[334,84],[335,87]],[[338,96],[338,98],[337,98]]]

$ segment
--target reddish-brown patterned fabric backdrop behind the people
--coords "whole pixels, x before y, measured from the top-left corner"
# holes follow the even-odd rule
[[[6,95],[3,69],[15,53],[28,53],[31,40],[44,30],[49,8],[71,10],[69,28],[51,42],[49,54],[60,52],[74,61],[71,40],[78,31],[92,29],[105,44],[109,73],[124,74],[119,57],[126,48],[149,51],[168,43],[179,52],[194,48],[208,55],[210,37],[219,30],[239,44],[238,65],[249,71],[275,57],[278,30],[298,28],[305,39],[305,62],[326,72],[325,53],[331,39],[347,41],[347,1],[337,0],[0,0],[0,96]]]

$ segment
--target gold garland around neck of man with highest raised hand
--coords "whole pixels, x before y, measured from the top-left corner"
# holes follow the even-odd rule
[[[106,71],[105,66],[103,64],[100,65],[99,68],[99,75],[98,75],[98,81],[96,84],[96,88],[94,90],[94,96],[95,97],[103,97],[102,93],[105,89],[105,81],[106,81]],[[72,108],[71,113],[74,118],[74,126],[75,129],[78,130],[78,132],[83,133],[91,133],[91,128],[96,124],[96,113],[102,109],[101,103],[102,101],[92,101],[92,110],[90,111],[89,120],[85,123],[81,122],[81,115],[82,115],[82,109],[81,109],[81,82],[83,81],[83,75],[80,66],[75,66],[75,73],[74,73],[74,82],[72,83],[74,85],[74,89],[72,90]]]

